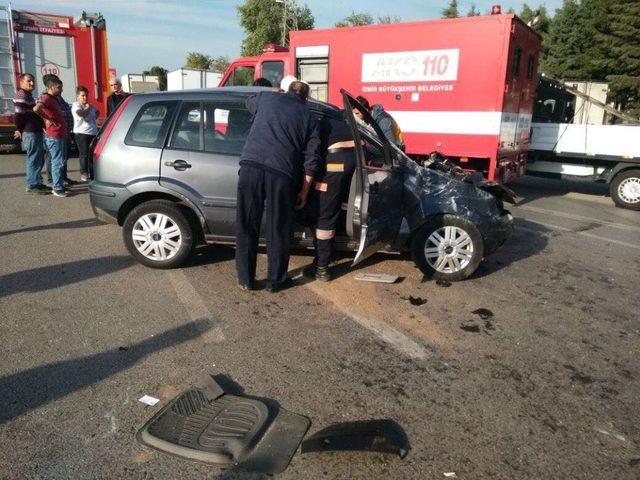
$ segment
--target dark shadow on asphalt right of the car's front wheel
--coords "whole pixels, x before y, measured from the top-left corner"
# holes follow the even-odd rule
[[[491,275],[513,263],[537,255],[547,247],[551,232],[539,223],[515,218],[511,238],[480,263],[470,279]]]

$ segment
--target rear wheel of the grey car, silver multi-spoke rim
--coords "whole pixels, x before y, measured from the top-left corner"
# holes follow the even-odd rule
[[[168,200],[141,203],[122,225],[124,244],[140,263],[175,268],[191,255],[194,229],[180,206]]]

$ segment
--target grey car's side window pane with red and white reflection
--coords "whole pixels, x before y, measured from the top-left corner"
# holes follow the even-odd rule
[[[244,105],[203,104],[204,151],[240,155],[249,135],[253,115]]]

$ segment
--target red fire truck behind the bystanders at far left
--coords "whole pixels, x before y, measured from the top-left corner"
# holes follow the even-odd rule
[[[13,94],[17,76],[35,77],[34,96],[44,91],[42,77],[58,75],[63,98],[75,101],[75,89],[89,89],[89,101],[104,116],[109,95],[107,33],[102,15],[26,12],[0,7],[0,145],[14,146]]]

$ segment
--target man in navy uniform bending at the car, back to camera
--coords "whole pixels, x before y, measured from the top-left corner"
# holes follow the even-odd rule
[[[320,171],[318,122],[306,105],[309,85],[287,93],[261,92],[247,100],[253,125],[240,157],[236,217],[236,271],[243,289],[254,288],[262,212],[267,209],[267,291],[288,283],[294,209],[307,201]]]

